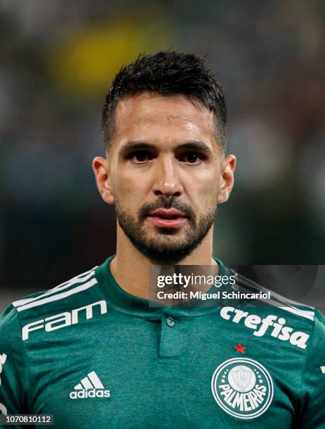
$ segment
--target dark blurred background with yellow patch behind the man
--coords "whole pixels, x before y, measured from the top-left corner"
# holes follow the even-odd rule
[[[0,0],[0,38],[0,311],[114,253],[102,103],[161,48],[208,55],[225,88],[238,168],[215,256],[325,264],[324,1]]]

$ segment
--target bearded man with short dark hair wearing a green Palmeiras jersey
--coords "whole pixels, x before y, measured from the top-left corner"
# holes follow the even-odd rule
[[[93,161],[116,208],[116,255],[6,309],[3,414],[53,414],[57,428],[325,428],[318,311],[275,294],[240,308],[149,299],[152,266],[231,278],[212,257],[234,184],[225,128],[223,90],[200,58],[164,51],[119,71],[102,116],[106,158]]]

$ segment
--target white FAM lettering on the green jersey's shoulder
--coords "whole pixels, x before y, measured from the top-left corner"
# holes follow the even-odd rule
[[[76,325],[79,323],[79,314],[82,311],[86,313],[86,320],[93,318],[93,308],[100,306],[100,314],[107,313],[106,301],[97,301],[88,306],[75,308],[71,312],[65,311],[65,313],[55,314],[45,319],[37,320],[36,322],[29,323],[22,327],[22,340],[25,341],[29,338],[29,332],[38,331],[39,329],[45,329],[46,332],[55,331],[55,329],[61,329],[70,325]]]

